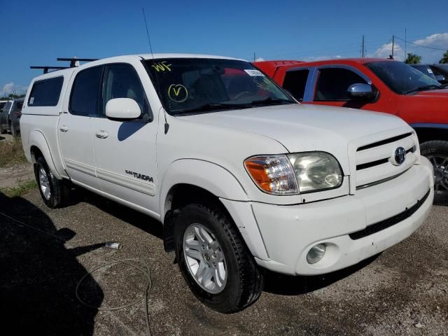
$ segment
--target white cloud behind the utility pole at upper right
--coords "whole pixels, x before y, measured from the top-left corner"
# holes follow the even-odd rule
[[[426,38],[421,38],[416,41],[409,41],[412,43],[407,43],[406,52],[412,52],[416,55],[421,56],[422,63],[438,63],[442,58],[443,50],[448,50],[448,33],[433,34],[426,36]],[[439,48],[443,50],[434,50],[429,48],[423,48],[419,45],[424,45],[431,48]],[[386,58],[392,53],[392,43],[381,45],[377,50],[375,50],[369,56]],[[399,38],[395,39],[395,47],[393,56],[395,59],[400,61],[405,59],[405,41]]]

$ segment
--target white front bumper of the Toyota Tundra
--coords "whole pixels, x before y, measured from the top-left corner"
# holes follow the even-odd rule
[[[323,274],[354,265],[420,227],[433,204],[433,185],[433,168],[421,158],[421,165],[391,181],[357,190],[356,195],[292,206],[252,202],[267,255],[254,254],[255,260],[274,272],[297,275]],[[414,211],[409,211],[412,208]],[[376,223],[386,225],[371,230]],[[243,237],[247,242],[248,235]],[[325,244],[326,252],[310,265],[307,253],[316,244]],[[249,241],[248,246],[253,244]]]

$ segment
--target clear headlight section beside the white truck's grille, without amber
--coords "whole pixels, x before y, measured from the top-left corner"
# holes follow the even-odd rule
[[[308,152],[290,154],[288,158],[293,165],[300,193],[341,186],[342,170],[333,155],[325,152]]]

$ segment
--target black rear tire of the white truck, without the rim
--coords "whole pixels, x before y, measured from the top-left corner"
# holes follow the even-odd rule
[[[42,190],[43,188],[41,188],[41,180],[39,179],[39,172],[41,169],[43,169],[48,178],[48,186],[50,188],[49,197],[45,197]],[[64,204],[69,200],[69,187],[67,186],[66,181],[55,178],[50,172],[44,158],[41,157],[37,159],[37,162],[34,165],[34,175],[36,176],[37,186],[45,205],[52,209],[64,207]]]

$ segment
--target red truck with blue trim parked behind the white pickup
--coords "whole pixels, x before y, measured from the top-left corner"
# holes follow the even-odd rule
[[[266,61],[255,66],[305,104],[395,114],[419,137],[434,166],[436,197],[448,196],[448,88],[392,59]]]

